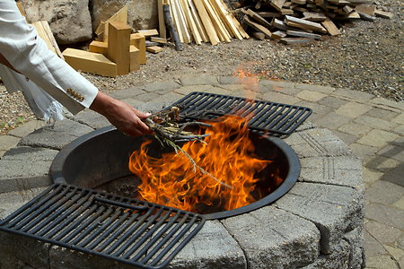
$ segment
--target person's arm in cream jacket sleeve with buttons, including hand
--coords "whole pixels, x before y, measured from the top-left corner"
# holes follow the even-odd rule
[[[151,133],[140,120],[145,113],[98,91],[50,51],[13,0],[0,0],[0,54],[0,63],[25,75],[73,114],[91,108],[126,134]]]

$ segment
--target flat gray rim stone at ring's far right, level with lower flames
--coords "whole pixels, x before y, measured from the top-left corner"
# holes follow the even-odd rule
[[[362,162],[354,156],[310,157],[300,163],[300,181],[364,188]]]

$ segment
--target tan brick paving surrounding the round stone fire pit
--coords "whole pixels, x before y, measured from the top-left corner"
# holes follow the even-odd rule
[[[245,96],[255,90],[255,99],[312,108],[308,120],[328,128],[362,160],[366,268],[404,268],[404,102],[362,91],[292,82],[244,85],[232,77],[215,76],[183,77],[179,82],[146,84],[113,95],[145,108],[144,102],[169,105],[191,91]],[[105,122],[94,123],[92,127],[102,124]],[[0,157],[41,126],[40,121],[34,121],[0,136]]]

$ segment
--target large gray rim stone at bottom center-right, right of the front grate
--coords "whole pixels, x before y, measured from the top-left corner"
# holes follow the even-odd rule
[[[319,255],[319,230],[311,221],[266,206],[222,221],[240,244],[250,268],[294,268]]]

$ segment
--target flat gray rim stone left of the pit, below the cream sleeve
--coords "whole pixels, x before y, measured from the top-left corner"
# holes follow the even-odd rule
[[[58,121],[55,126],[47,126],[23,137],[19,145],[43,147],[60,150],[83,134],[92,132],[89,126],[65,119]]]

